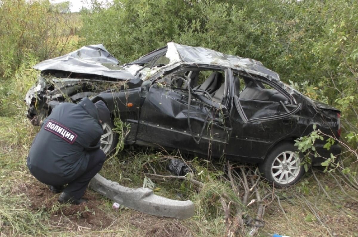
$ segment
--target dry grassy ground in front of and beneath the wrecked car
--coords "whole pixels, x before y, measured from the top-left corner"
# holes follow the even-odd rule
[[[240,206],[231,185],[224,178],[220,163],[195,158],[190,165],[196,170],[193,178],[204,183],[199,188],[189,181],[153,179],[155,193],[195,203],[195,215],[188,220],[160,218],[122,207],[111,209],[112,202],[89,190],[90,202],[83,207],[59,205],[57,196],[40,184],[26,168],[26,155],[37,131],[20,117],[0,117],[0,232],[2,236],[226,236],[225,213],[219,198],[231,204],[229,215],[238,210],[252,218],[257,203]],[[177,154],[170,154],[171,156]],[[165,170],[167,153],[126,149],[106,162],[101,171],[122,185],[142,187],[144,173],[168,175]],[[203,171],[200,175],[198,173]],[[266,222],[258,236],[273,233],[288,236],[357,236],[357,190],[315,170],[320,185],[309,172],[292,188],[274,190],[280,198],[264,203]],[[339,179],[338,179],[339,180]],[[260,189],[272,190],[267,185]],[[239,187],[242,192],[242,187]],[[328,195],[328,196],[327,196]],[[249,196],[248,200],[255,198]],[[271,202],[272,201],[272,202]],[[269,203],[271,202],[271,203]],[[244,227],[246,231],[250,230]],[[240,236],[240,235],[236,235]]]

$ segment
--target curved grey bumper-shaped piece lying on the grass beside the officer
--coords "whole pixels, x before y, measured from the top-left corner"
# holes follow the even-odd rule
[[[157,196],[150,188],[127,188],[97,174],[89,183],[96,192],[114,202],[154,216],[190,218],[194,215],[194,203]]]

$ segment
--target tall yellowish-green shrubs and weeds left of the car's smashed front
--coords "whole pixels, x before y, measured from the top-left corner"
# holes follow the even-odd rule
[[[24,116],[31,67],[77,47],[76,14],[60,14],[49,0],[0,1],[0,116]]]

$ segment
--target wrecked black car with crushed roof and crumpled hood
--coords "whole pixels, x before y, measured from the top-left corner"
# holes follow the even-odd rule
[[[129,125],[126,144],[258,163],[276,186],[292,185],[303,175],[294,140],[314,124],[340,136],[339,110],[305,97],[259,61],[202,47],[170,42],[121,65],[103,45],[91,45],[34,68],[41,74],[25,98],[33,125],[56,105],[87,96],[104,101],[113,119]],[[106,153],[118,142],[113,128],[113,121],[103,125]],[[315,144],[323,157],[340,153],[338,144],[326,150],[324,143]],[[313,165],[320,162],[313,157]]]

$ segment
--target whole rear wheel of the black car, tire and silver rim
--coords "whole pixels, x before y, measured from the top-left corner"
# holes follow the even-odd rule
[[[302,155],[296,153],[295,146],[290,142],[276,145],[258,165],[260,172],[275,187],[287,187],[297,183],[305,168],[300,166]]]

